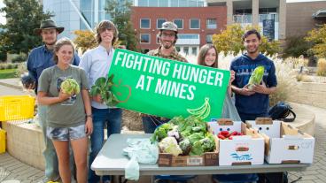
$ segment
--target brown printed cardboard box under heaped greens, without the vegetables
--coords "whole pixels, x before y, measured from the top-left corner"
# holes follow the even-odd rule
[[[173,156],[170,153],[160,152],[158,164],[159,166],[216,166],[218,165],[218,150],[206,152],[202,156]]]

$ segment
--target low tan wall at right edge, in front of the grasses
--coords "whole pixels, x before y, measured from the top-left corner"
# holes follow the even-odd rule
[[[292,91],[288,100],[326,109],[326,83],[299,82],[298,89]]]

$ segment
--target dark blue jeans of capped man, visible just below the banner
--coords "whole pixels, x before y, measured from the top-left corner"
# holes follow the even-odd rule
[[[169,118],[161,119],[159,117],[149,115],[142,117],[142,119],[145,133],[154,133],[157,126],[167,123],[170,120]]]

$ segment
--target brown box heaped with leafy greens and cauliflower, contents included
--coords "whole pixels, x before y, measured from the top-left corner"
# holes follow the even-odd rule
[[[159,145],[159,166],[218,164],[217,138],[200,118],[172,118],[155,130],[151,141]]]

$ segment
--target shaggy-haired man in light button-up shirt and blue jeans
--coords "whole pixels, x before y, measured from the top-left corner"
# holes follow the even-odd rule
[[[95,85],[95,82],[100,77],[107,77],[110,66],[113,60],[113,44],[118,41],[118,29],[113,22],[103,20],[96,27],[97,48],[88,50],[82,56],[80,67],[85,70],[89,79],[89,88]],[[93,133],[90,134],[90,154],[89,154],[89,183],[98,183],[100,177],[90,169],[100,149],[105,141],[106,126],[109,136],[113,133],[120,133],[122,110],[115,107],[107,107],[103,104],[101,95],[91,97],[92,116],[93,118]],[[114,149],[110,149],[114,150]],[[110,182],[109,176],[104,176],[102,182]]]

